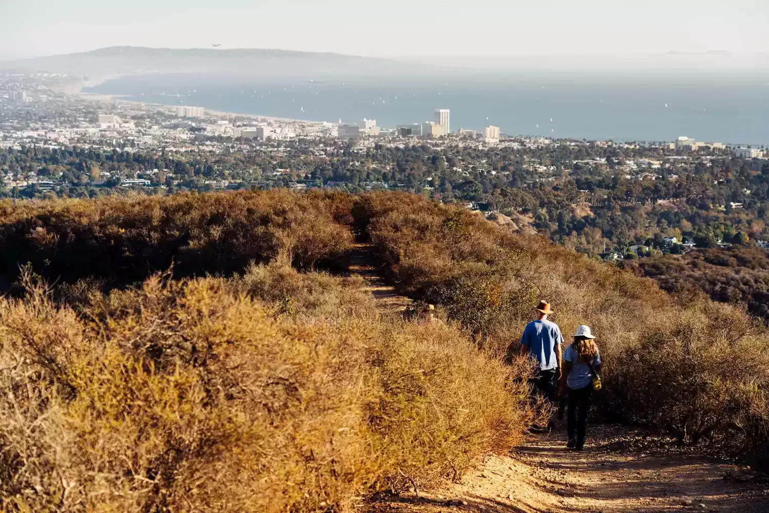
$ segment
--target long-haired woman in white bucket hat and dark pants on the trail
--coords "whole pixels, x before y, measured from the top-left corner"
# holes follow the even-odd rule
[[[566,446],[575,451],[584,448],[590,397],[601,389],[601,356],[594,338],[590,326],[581,325],[574,333],[574,341],[564,351],[559,395],[567,394],[569,441]]]

